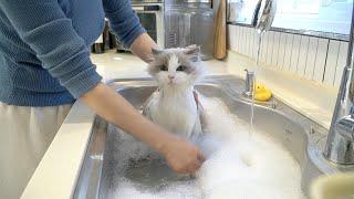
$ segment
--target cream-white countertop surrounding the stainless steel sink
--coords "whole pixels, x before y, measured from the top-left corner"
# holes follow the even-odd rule
[[[104,81],[119,77],[144,77],[146,63],[131,54],[117,54],[110,51],[93,54],[93,62]],[[252,69],[248,59],[229,53],[227,62],[207,61],[209,74],[243,75],[243,69]],[[280,72],[260,70],[259,80],[273,94],[294,109],[311,117],[324,127],[329,127],[336,91],[315,85]],[[314,98],[321,98],[314,101]],[[87,146],[94,118],[85,105],[76,102],[59,129],[51,146],[27,186],[24,199],[66,199],[71,198],[79,176],[85,148]]]

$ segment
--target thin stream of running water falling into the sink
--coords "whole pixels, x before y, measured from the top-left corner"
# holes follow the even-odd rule
[[[257,43],[257,56],[256,56],[253,90],[252,90],[252,93],[251,93],[251,118],[250,118],[250,130],[249,130],[250,138],[252,137],[252,133],[254,132],[254,127],[253,127],[253,119],[254,119],[254,91],[256,91],[256,78],[257,78],[257,74],[258,74],[258,70],[259,70],[259,56],[260,56],[260,50],[261,50],[261,44],[262,44],[262,35],[263,35],[263,32],[260,32],[259,30],[257,30],[258,43]]]

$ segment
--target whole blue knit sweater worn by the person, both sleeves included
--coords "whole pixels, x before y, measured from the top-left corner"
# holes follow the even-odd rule
[[[126,46],[145,32],[129,0],[0,0],[0,101],[55,106],[98,84],[90,46],[104,17]]]

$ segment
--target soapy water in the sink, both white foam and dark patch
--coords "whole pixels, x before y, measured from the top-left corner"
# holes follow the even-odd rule
[[[175,174],[145,144],[121,134],[108,198],[305,198],[300,166],[289,151],[259,130],[250,138],[249,125],[229,113],[221,101],[200,98],[207,125],[196,144],[207,160],[198,172]]]

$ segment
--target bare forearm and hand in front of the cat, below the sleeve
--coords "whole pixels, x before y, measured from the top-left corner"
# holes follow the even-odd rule
[[[199,149],[140,115],[124,97],[98,84],[81,97],[88,107],[164,155],[178,172],[195,172],[204,161]]]

